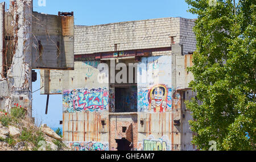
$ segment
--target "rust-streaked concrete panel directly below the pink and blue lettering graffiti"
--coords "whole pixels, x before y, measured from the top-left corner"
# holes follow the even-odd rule
[[[102,124],[105,121],[105,124]],[[67,142],[108,142],[108,115],[100,113],[64,113],[63,140]]]

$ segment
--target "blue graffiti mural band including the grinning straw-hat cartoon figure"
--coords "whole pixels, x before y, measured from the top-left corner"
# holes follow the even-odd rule
[[[139,90],[138,110],[163,113],[172,107],[172,89],[155,85],[149,90]]]

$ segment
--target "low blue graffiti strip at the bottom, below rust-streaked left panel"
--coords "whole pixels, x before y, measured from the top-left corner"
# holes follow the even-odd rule
[[[108,142],[71,142],[72,151],[109,151]]]

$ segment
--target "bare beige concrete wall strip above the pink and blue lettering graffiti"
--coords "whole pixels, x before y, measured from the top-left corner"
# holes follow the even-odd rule
[[[77,88],[96,88],[99,70],[97,69],[100,61],[86,60],[76,61],[76,70],[40,70],[41,94],[63,94],[63,90]],[[108,86],[102,84],[99,87]]]

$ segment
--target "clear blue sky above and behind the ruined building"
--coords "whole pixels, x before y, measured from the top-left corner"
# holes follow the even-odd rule
[[[9,0],[5,2],[9,5]],[[197,18],[187,10],[184,0],[46,0],[46,6],[39,6],[38,0],[34,0],[34,11],[55,15],[58,11],[74,11],[75,24],[86,26],[167,17]],[[38,81],[32,84],[33,91],[40,89],[40,73],[36,71]],[[46,98],[40,91],[33,93],[32,115],[36,123],[62,127],[59,124],[63,117],[62,96],[50,95],[48,115],[45,114]]]

